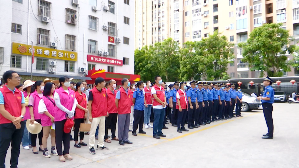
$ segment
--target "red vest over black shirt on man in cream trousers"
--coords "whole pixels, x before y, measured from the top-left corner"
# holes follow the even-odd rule
[[[106,89],[103,88],[100,91],[96,87],[90,90],[92,93],[92,103],[91,103],[91,116],[92,118],[97,118],[107,115],[107,97]]]

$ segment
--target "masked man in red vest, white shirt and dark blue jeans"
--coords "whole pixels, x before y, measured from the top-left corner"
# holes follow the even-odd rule
[[[152,108],[154,110],[154,127],[153,127],[153,137],[160,139],[161,137],[166,137],[162,133],[164,116],[165,116],[165,108],[166,108],[166,96],[164,88],[161,86],[162,78],[158,75],[155,76],[156,84],[152,87],[152,96],[153,103]]]

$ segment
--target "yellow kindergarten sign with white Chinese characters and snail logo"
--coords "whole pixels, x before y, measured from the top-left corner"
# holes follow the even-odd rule
[[[31,45],[13,43],[12,53],[31,56]],[[33,53],[35,57],[62,59],[68,61],[77,61],[78,54],[71,51],[56,50],[53,48],[46,48],[40,46],[33,46]]]

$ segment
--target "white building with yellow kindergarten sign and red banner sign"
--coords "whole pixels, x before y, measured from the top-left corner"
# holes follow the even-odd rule
[[[132,0],[0,1],[0,75],[14,70],[28,78],[32,66],[33,76],[44,78],[90,79],[92,69],[109,73],[106,80],[128,77],[134,8]]]

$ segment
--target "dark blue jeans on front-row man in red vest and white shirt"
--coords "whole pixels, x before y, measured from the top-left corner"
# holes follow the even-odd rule
[[[165,108],[154,109],[154,117],[153,135],[160,135],[162,133],[163,121],[165,117]]]

